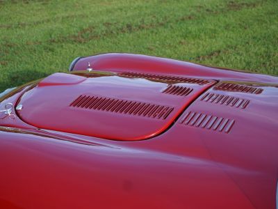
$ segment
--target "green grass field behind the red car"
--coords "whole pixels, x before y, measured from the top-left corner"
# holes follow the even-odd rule
[[[0,0],[0,91],[104,52],[278,75],[277,10],[277,0]]]

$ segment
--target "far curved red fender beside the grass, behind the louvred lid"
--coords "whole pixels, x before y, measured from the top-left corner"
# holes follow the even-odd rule
[[[95,70],[112,72],[147,72],[159,75],[183,75],[204,79],[278,83],[278,78],[250,72],[213,68],[185,61],[165,59],[140,54],[99,54],[79,59],[72,70],[85,70],[88,63]]]

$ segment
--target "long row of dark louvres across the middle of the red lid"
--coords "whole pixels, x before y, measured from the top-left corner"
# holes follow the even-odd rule
[[[70,104],[70,106],[83,109],[95,109],[99,111],[111,111],[118,114],[145,116],[163,120],[166,119],[167,116],[169,116],[174,110],[173,107],[166,107],[158,104],[86,95],[80,95],[79,98]]]

